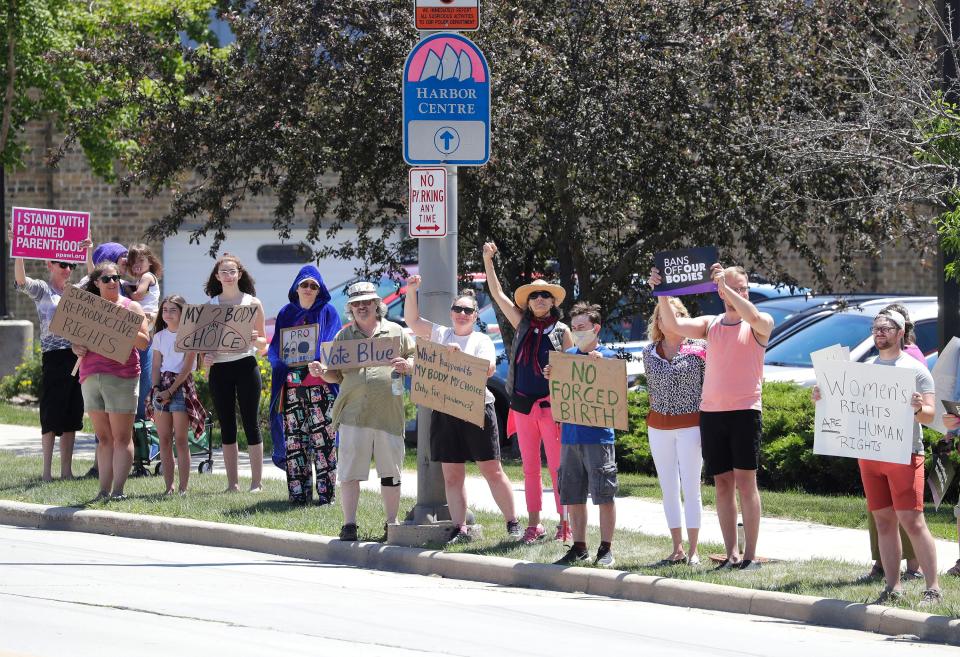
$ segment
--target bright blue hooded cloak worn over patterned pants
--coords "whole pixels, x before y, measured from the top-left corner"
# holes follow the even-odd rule
[[[317,300],[313,302],[310,308],[300,306],[300,297],[297,294],[297,286],[300,285],[300,281],[306,278],[312,278],[320,285]],[[287,373],[290,368],[280,357],[280,329],[304,324],[319,324],[320,331],[317,338],[317,353],[319,353],[320,343],[333,340],[333,336],[337,334],[341,326],[340,313],[329,303],[330,291],[323,284],[320,271],[313,265],[304,265],[300,268],[297,277],[293,279],[293,285],[290,286],[287,298],[290,299],[290,303],[277,313],[273,340],[270,341],[270,349],[267,351],[267,358],[273,368],[273,374],[270,378],[270,435],[273,438],[273,463],[282,470],[287,469],[287,447],[284,439],[283,416],[278,409],[280,408],[283,384],[287,381]],[[330,387],[334,394],[339,391],[339,386],[331,385]]]

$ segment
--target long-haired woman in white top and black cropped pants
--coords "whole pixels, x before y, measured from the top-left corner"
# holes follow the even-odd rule
[[[240,476],[237,473],[240,451],[237,448],[236,411],[239,404],[240,420],[243,422],[247,453],[250,456],[250,492],[259,493],[262,490],[260,480],[263,475],[263,438],[260,436],[257,415],[263,381],[260,379],[260,367],[255,354],[262,355],[267,350],[263,304],[253,296],[256,294],[253,276],[243,268],[239,258],[229,253],[224,253],[214,263],[203,291],[208,297],[212,297],[210,303],[221,306],[256,306],[258,310],[249,349],[240,353],[204,354],[203,364],[210,368],[210,396],[213,397],[213,407],[220,422],[227,492],[236,493],[240,490]]]

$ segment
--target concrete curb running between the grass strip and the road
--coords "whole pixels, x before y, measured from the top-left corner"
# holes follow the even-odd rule
[[[0,501],[0,524],[235,548],[358,568],[753,614],[891,636],[908,634],[924,641],[960,646],[960,619],[616,570],[563,568],[505,557],[448,554],[381,543],[344,543],[330,536],[285,530],[26,502]]]

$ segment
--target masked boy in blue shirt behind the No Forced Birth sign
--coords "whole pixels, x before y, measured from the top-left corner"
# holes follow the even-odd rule
[[[570,310],[570,328],[573,330],[575,347],[568,354],[593,358],[615,358],[609,349],[599,346],[600,306],[577,303]],[[547,365],[543,375],[550,378],[551,367]],[[624,403],[626,401],[624,400]],[[560,432],[560,503],[570,512],[573,525],[573,546],[557,565],[573,566],[588,561],[587,552],[587,493],[593,503],[600,507],[600,547],[594,563],[610,567],[614,564],[613,528],[617,522],[614,496],[617,494],[617,460],[613,448],[613,429],[591,427],[564,422]]]

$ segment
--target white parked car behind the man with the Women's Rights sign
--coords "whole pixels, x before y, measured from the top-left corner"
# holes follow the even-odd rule
[[[901,303],[910,313],[917,346],[929,355],[937,351],[937,298],[884,297],[826,312],[772,344],[764,357],[765,381],[816,383],[810,353],[831,345],[850,348],[850,360],[863,362],[877,354],[870,328],[873,318],[891,303]]]

